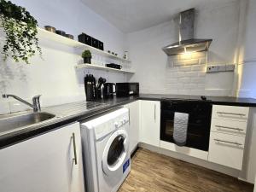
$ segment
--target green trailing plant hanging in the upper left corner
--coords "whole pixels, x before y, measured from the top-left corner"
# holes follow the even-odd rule
[[[38,46],[38,21],[25,8],[10,1],[0,0],[0,26],[5,33],[2,54],[4,59],[11,56],[15,61],[25,61],[35,55],[42,55]]]

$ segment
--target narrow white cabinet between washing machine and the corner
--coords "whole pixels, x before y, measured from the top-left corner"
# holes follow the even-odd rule
[[[129,138],[130,145],[129,150],[132,153],[139,142],[139,129],[140,129],[140,101],[131,102],[125,105],[125,108],[129,109]]]

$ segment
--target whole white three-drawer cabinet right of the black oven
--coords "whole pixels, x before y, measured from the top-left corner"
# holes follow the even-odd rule
[[[249,108],[212,107],[208,160],[241,170]]]

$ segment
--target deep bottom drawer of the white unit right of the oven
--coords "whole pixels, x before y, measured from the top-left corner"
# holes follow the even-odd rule
[[[241,170],[245,137],[211,132],[208,160]]]

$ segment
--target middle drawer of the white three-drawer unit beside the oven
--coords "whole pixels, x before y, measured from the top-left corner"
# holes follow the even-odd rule
[[[247,132],[247,121],[212,119],[211,131],[244,136]]]

